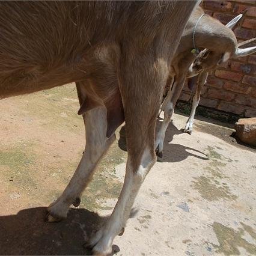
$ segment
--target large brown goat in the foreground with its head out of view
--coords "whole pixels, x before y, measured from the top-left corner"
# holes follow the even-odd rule
[[[90,241],[109,254],[156,161],[154,133],[169,67],[198,1],[0,2],[0,99],[76,82],[86,127],[81,162],[47,221],[78,206],[125,117],[128,160],[115,209]],[[102,66],[103,65],[103,66]],[[105,73],[99,74],[99,70]],[[114,70],[114,72],[113,72]],[[118,82],[117,82],[118,81]]]

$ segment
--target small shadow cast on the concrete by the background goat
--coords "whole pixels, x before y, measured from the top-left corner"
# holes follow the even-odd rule
[[[162,118],[157,119],[156,130],[159,130],[160,126],[162,125],[160,120],[162,120]],[[165,133],[165,141],[163,143],[163,157],[158,159],[159,162],[180,162],[186,159],[188,156],[194,156],[202,160],[209,160],[209,158],[205,157],[206,154],[196,150],[195,148],[170,143],[174,135],[180,134],[183,134],[183,129],[178,130],[177,127],[174,126],[174,124],[171,122]],[[120,139],[118,140],[118,145],[121,150],[127,151],[125,126],[121,127],[120,129]]]

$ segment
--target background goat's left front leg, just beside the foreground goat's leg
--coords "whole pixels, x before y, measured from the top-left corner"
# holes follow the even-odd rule
[[[168,125],[171,121],[172,114],[174,112],[174,107],[176,105],[176,102],[178,100],[178,97],[180,96],[181,90],[183,88],[185,81],[185,76],[178,77],[173,85],[172,91],[170,93],[170,96],[168,98],[167,104],[165,106],[164,110],[164,118],[162,126],[160,127],[159,131],[157,132],[156,136],[156,154],[160,158],[163,157],[163,142],[165,140],[165,133],[168,128]]]

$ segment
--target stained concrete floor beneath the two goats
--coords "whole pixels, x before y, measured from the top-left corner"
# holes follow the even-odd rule
[[[115,205],[127,153],[122,127],[81,206],[62,222],[44,222],[84,150],[78,105],[73,85],[1,100],[0,255],[90,254],[83,245]],[[186,120],[174,115],[138,212],[114,240],[117,255],[256,254],[256,150],[206,121],[185,134]]]

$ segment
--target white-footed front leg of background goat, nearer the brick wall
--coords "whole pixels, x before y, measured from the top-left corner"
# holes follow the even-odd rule
[[[208,76],[208,72],[202,72],[202,73],[200,73],[200,75],[198,75],[197,92],[195,93],[195,96],[193,97],[192,109],[191,109],[191,112],[189,115],[189,119],[187,120],[186,126],[184,128],[184,132],[187,132],[189,134],[192,134],[195,111],[196,111],[197,106],[200,101],[200,95],[201,95],[203,86],[206,84],[207,76]]]

